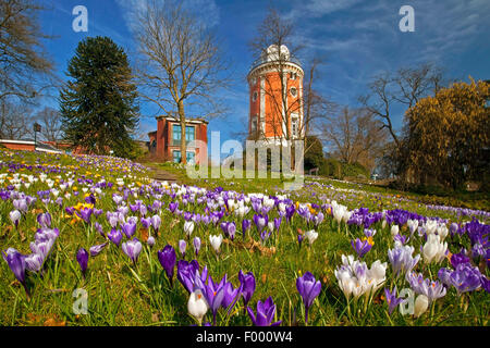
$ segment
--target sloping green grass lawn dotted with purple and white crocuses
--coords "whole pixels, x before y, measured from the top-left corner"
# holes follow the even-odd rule
[[[366,237],[364,226],[338,223],[332,204],[336,201],[348,210],[364,207],[369,212],[388,211],[388,216],[401,216],[397,210],[409,211],[419,216],[414,219],[419,219],[420,224],[428,216],[438,216],[443,219],[439,226],[449,228],[454,222],[462,231],[475,216],[481,223],[475,228],[488,234],[485,224],[489,215],[486,212],[466,211],[468,214],[465,215],[460,210],[431,209],[417,195],[330,179],[307,178],[303,189],[284,191],[281,179],[193,181],[182,170],[162,165],[164,171],[177,176],[179,183],[199,187],[191,188],[152,183],[150,172],[144,166],[121,159],[73,158],[0,149],[0,248],[4,258],[9,248],[15,248],[24,256],[33,254],[36,246],[33,247],[32,243],[39,234],[46,229],[59,231],[40,271],[25,272],[28,296],[9,263],[0,262],[2,325],[195,324],[196,320],[187,310],[189,294],[177,279],[177,266],[173,268],[171,283],[159,262],[158,250],[167,245],[175,250],[177,262],[197,260],[199,274],[206,266],[215,283],[226,276],[225,282],[232,285],[229,289],[238,289],[240,271],[252,272],[256,286],[248,307],[256,312],[257,302],[271,297],[275,304],[272,321],[281,321],[281,325],[305,325],[305,306],[296,279],[308,272],[321,286],[309,308],[308,325],[488,325],[490,298],[483,283],[462,294],[454,286],[448,286],[444,296],[431,301],[418,318],[403,315],[397,309],[390,315],[383,288],[393,289],[396,285],[399,293],[411,288],[404,275],[396,276],[388,258],[389,249],[394,249],[391,225],[396,223],[391,222],[390,225],[385,216],[372,223],[369,228],[376,229],[376,234],[369,239],[371,248],[358,258],[351,241]],[[249,208],[243,216],[235,206],[238,201],[244,201],[244,207]],[[280,202],[294,208],[291,220],[284,215]],[[179,206],[172,211],[170,208],[175,203]],[[271,208],[266,212],[268,204]],[[254,209],[267,215],[269,222],[279,221],[282,215],[279,228],[272,225],[270,234],[264,233],[269,228],[266,225],[259,231],[254,223],[254,215],[258,215]],[[15,210],[21,213],[17,226],[11,214]],[[91,212],[86,219],[88,210]],[[42,226],[37,220],[46,212],[51,216],[49,226]],[[317,223],[315,217],[320,213],[323,219]],[[155,215],[161,219],[158,232],[142,221]],[[132,224],[131,216],[136,221],[134,234],[131,238],[124,236],[121,245],[134,237],[142,243],[142,251],[135,262],[123,252],[121,245],[108,239],[112,229],[124,232]],[[205,222],[204,216],[210,221]],[[408,237],[411,231],[406,220],[396,219],[400,235]],[[250,228],[245,234],[242,233],[243,220],[250,221]],[[186,221],[194,222],[189,236],[184,227]],[[224,236],[217,252],[210,236],[225,235],[228,227],[222,227],[223,222],[226,226],[232,224],[235,234],[234,238]],[[307,238],[308,231],[318,233],[311,244]],[[148,244],[149,236],[155,237],[152,246]],[[301,244],[298,236],[303,238]],[[201,241],[197,254],[193,247],[195,237]],[[180,252],[181,240],[186,243],[185,256]],[[488,252],[488,235],[486,240],[482,248]],[[89,251],[91,247],[106,243],[97,256],[88,258],[84,276],[76,259],[77,251],[81,248]],[[458,253],[462,247],[468,251],[476,248],[466,232],[449,234],[444,243],[448,254],[429,263],[421,254],[414,271],[441,283],[438,277],[441,268],[453,269],[451,256]],[[420,247],[426,245],[424,233],[413,234],[407,245],[414,247],[413,256],[422,253]],[[350,254],[366,262],[368,269],[377,260],[385,263],[383,279],[376,291],[357,300],[353,297],[347,300],[334,273],[342,264],[342,256]],[[470,258],[469,262],[488,282],[485,257]],[[81,298],[74,297],[75,290],[75,295],[88,296],[87,314],[74,310],[81,303],[77,301]],[[213,322],[210,309],[204,322]],[[220,308],[217,311],[216,325],[252,324],[243,298],[238,298],[230,310]]]

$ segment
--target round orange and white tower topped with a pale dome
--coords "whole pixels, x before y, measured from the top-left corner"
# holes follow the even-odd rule
[[[303,77],[303,69],[291,59],[284,45],[280,50],[277,45],[269,46],[254,62],[247,75],[250,89],[249,139],[286,145],[285,140],[304,135]]]

